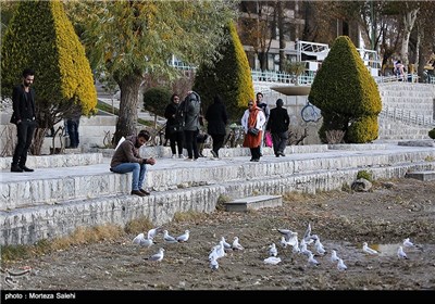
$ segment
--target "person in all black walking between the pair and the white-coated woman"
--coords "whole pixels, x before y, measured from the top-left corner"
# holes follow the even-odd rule
[[[214,96],[214,103],[207,109],[206,112],[207,132],[213,139],[213,149],[211,154],[214,159],[219,159],[219,150],[224,144],[226,136],[226,124],[228,123],[228,114],[225,104],[219,94]]]

